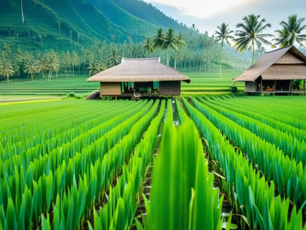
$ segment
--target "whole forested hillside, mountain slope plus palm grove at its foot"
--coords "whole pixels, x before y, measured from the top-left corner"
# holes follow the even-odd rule
[[[0,66],[13,71],[11,78],[44,71],[51,76],[60,69],[66,74],[68,70],[87,74],[92,69],[94,73],[117,65],[122,57],[160,56],[163,63],[182,72],[211,72],[212,66],[220,64],[244,70],[251,64],[249,52],[240,55],[227,44],[220,60],[221,45],[213,35],[200,33],[144,1],[2,2]],[[171,30],[175,39],[180,37],[180,45],[153,47],[159,28],[163,40]],[[256,51],[256,59],[262,54]]]

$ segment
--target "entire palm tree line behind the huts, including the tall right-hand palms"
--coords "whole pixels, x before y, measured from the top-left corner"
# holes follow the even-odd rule
[[[283,47],[298,44],[302,47],[306,41],[306,35],[301,32],[306,28],[303,25],[305,18],[298,18],[296,14],[288,17],[287,22],[281,21],[282,29],[276,30],[278,36],[262,33],[264,29],[271,27],[260,15],[250,14],[245,16],[242,23],[236,25],[236,32],[229,29],[228,24],[222,23],[212,36],[207,32],[194,36],[190,34],[175,34],[172,28],[166,32],[159,28],[153,37],[146,37],[143,42],[133,43],[128,37],[123,44],[115,43],[114,36],[112,43],[95,43],[89,48],[82,48],[80,51],[56,52],[51,49],[49,52],[22,51],[20,48],[12,52],[7,44],[0,53],[0,75],[7,78],[27,75],[33,76],[42,73],[43,79],[51,80],[52,75],[57,78],[58,73],[69,75],[89,74],[95,75],[108,67],[120,63],[122,57],[144,58],[160,56],[161,61],[181,72],[211,72],[215,65],[245,69],[249,66],[244,56],[237,58],[233,56],[229,46],[225,48],[224,43],[236,47],[238,52],[252,50],[252,64],[265,53],[262,44]],[[191,26],[196,31],[196,25]],[[231,34],[234,33],[234,36]],[[271,41],[267,38],[273,38]],[[272,43],[274,42],[274,44]]]

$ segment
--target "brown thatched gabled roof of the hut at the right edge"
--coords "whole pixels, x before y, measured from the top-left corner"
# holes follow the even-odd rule
[[[265,53],[234,81],[306,79],[306,56],[294,46]]]

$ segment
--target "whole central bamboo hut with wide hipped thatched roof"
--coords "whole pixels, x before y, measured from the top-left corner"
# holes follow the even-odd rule
[[[190,79],[160,58],[122,58],[121,63],[87,79],[100,82],[101,96],[181,95],[181,81]]]

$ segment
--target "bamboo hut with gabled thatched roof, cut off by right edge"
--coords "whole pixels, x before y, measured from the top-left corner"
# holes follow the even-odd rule
[[[293,88],[292,80],[304,80],[303,90]],[[265,53],[234,81],[245,82],[244,91],[254,93],[305,93],[306,56],[288,46]]]

